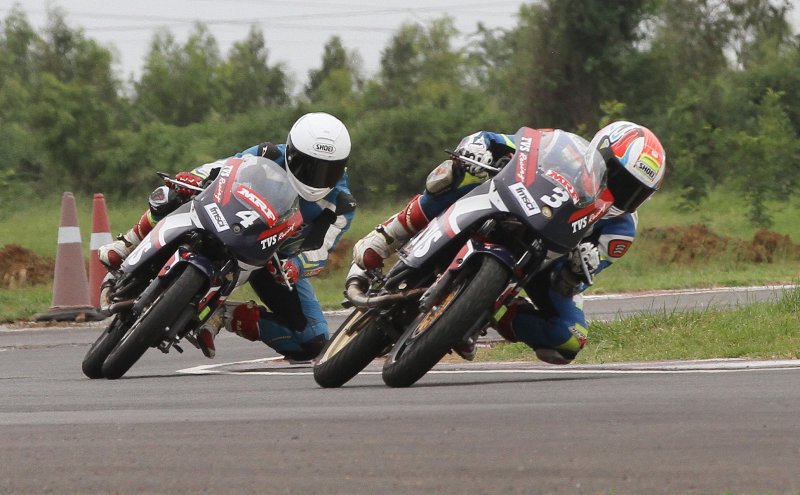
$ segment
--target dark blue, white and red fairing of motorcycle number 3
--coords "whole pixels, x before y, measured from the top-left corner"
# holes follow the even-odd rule
[[[412,267],[425,264],[459,234],[489,218],[513,216],[536,233],[548,251],[565,253],[608,210],[598,198],[605,163],[579,136],[523,127],[517,151],[490,181],[453,203],[403,248]]]

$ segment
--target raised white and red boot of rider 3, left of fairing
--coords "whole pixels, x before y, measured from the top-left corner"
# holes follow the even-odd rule
[[[353,246],[356,265],[364,270],[382,268],[386,258],[428,225],[430,220],[422,211],[421,197],[415,196],[402,210],[356,242]]]

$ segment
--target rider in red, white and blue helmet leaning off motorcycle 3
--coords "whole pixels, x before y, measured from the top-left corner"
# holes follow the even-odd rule
[[[479,164],[502,166],[516,149],[513,138],[512,134],[479,131],[463,138],[455,152]],[[515,299],[498,317],[497,330],[505,339],[526,343],[539,359],[551,364],[572,362],[585,346],[588,330],[582,292],[591,277],[628,251],[636,236],[636,210],[661,188],[666,171],[658,138],[632,122],[617,121],[600,129],[589,149],[598,150],[606,162],[608,182],[602,199],[612,206],[577,248],[526,287],[529,299]],[[422,194],[355,244],[354,264],[368,271],[380,269],[431,219],[487,178],[488,172],[477,164],[442,162],[428,175]],[[471,360],[475,342],[464,342],[454,351]]]

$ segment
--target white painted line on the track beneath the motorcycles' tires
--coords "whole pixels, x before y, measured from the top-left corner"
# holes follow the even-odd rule
[[[280,368],[264,370],[237,371],[225,369],[226,367],[241,366],[248,364],[271,364],[283,361],[281,358],[253,359],[249,361],[234,361],[230,363],[211,364],[195,366],[177,370],[177,373],[188,375],[247,375],[247,376],[304,376],[311,375],[310,365],[291,365],[286,364]],[[293,371],[285,371],[286,367],[296,366]],[[468,374],[675,374],[675,373],[733,373],[743,371],[777,371],[777,370],[800,370],[800,360],[787,359],[775,361],[748,361],[743,359],[728,360],[702,360],[702,361],[683,361],[683,362],[661,362],[661,363],[616,363],[598,365],[577,365],[573,367],[546,367],[545,365],[527,363],[475,363],[463,366],[474,366],[473,369],[433,369],[428,374],[433,375],[468,375]],[[480,366],[480,368],[479,368]],[[497,366],[491,368],[490,366]],[[520,368],[515,366],[533,366]],[[488,367],[488,368],[485,368]],[[305,369],[308,369],[307,371]],[[362,375],[380,375],[380,371],[362,371]]]

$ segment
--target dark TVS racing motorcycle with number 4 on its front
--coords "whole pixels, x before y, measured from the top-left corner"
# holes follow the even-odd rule
[[[288,280],[277,251],[302,215],[286,171],[255,156],[229,158],[215,171],[208,187],[159,174],[198,194],[159,221],[105,282],[113,319],[83,359],[89,378],[119,378],[151,347],[183,352],[184,338],[197,347],[197,329],[270,260]]]

